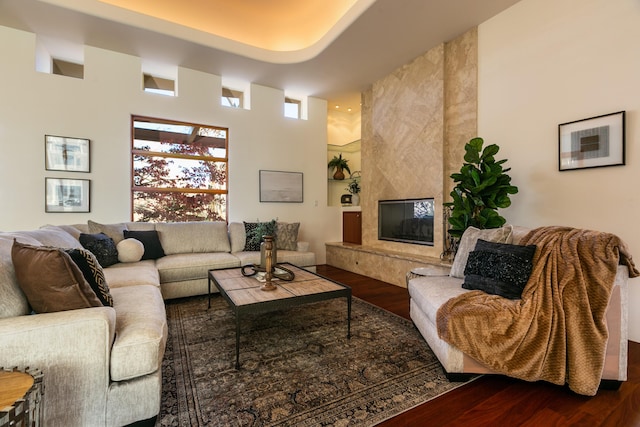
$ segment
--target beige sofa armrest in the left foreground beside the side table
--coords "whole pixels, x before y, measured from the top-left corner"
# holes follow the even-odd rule
[[[104,425],[116,313],[94,307],[0,319],[0,366],[38,368],[50,425]]]

